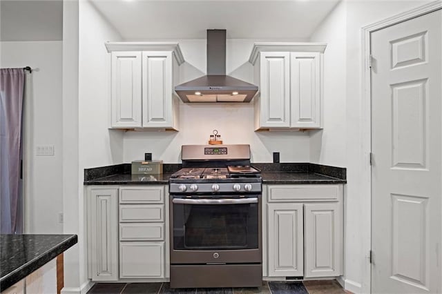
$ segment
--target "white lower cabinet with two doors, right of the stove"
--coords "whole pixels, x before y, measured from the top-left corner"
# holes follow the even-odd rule
[[[263,188],[268,277],[342,275],[343,185]]]

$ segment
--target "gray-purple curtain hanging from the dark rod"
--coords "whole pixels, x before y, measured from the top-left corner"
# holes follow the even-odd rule
[[[21,233],[21,112],[23,68],[0,69],[1,233]]]

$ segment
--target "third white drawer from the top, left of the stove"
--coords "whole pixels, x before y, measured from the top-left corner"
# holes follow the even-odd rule
[[[119,239],[121,241],[162,241],[164,240],[164,224],[119,224]]]

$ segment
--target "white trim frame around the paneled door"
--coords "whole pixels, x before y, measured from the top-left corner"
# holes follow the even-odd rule
[[[371,264],[369,262],[370,250],[372,248],[372,167],[370,164],[370,155],[372,151],[372,79],[371,79],[371,34],[376,30],[382,30],[389,26],[394,26],[403,21],[408,21],[416,17],[421,17],[424,14],[434,12],[442,9],[442,1],[434,1],[419,6],[407,12],[396,14],[382,21],[377,21],[368,26],[361,28],[361,146],[362,146],[362,158],[361,158],[361,178],[362,187],[361,193],[363,193],[363,215],[362,215],[362,237],[363,237],[363,254],[365,256],[365,262],[362,268],[362,293],[371,293],[372,275]]]

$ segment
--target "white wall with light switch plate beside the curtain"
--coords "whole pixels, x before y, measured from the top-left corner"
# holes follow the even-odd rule
[[[1,68],[30,66],[26,80],[30,106],[30,170],[25,232],[61,233],[61,41],[2,41]],[[52,145],[54,156],[36,156],[39,145]]]

